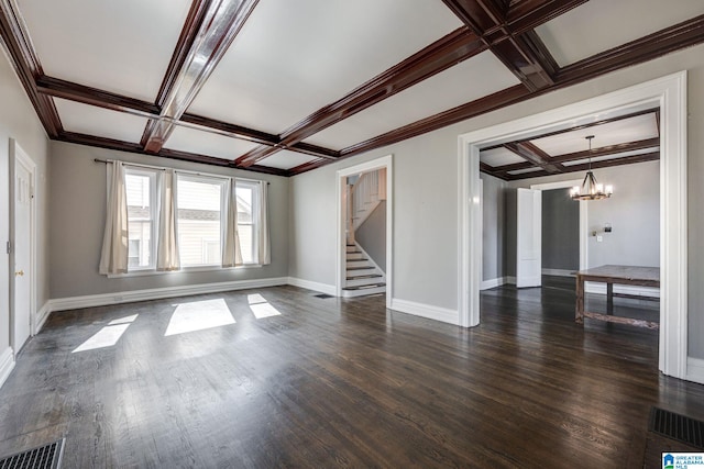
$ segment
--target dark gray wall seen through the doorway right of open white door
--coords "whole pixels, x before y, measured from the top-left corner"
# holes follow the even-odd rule
[[[580,204],[566,189],[542,191],[542,268],[580,268]]]

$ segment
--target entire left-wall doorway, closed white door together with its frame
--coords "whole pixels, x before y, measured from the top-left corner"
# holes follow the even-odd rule
[[[13,139],[10,161],[10,343],[16,356],[33,334],[36,166]]]

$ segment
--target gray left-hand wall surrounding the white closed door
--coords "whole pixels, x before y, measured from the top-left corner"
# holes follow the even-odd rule
[[[36,310],[48,300],[48,212],[47,212],[47,174],[48,139],[44,133],[32,103],[14,75],[4,54],[0,53],[0,243],[4,245],[10,238],[9,228],[9,157],[10,138],[16,139],[20,146],[36,164]],[[6,249],[0,249],[0,353],[10,345],[10,258]],[[34,311],[33,313],[36,313]]]

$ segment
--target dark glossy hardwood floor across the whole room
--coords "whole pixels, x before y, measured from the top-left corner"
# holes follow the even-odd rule
[[[659,375],[657,331],[575,324],[573,282],[485,291],[471,330],[294,287],[55,313],[0,389],[0,456],[65,436],[64,468],[660,467],[650,407],[702,420],[704,386]]]

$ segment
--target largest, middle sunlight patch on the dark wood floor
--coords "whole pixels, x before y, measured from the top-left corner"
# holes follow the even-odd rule
[[[234,317],[223,299],[194,301],[176,305],[164,336],[185,334],[234,324]]]

